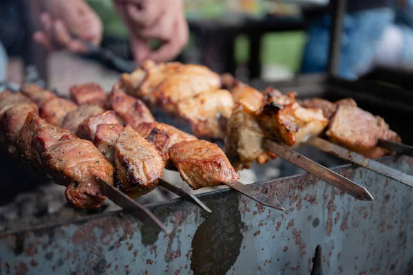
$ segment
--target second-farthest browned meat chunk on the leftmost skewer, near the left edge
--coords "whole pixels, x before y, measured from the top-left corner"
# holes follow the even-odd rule
[[[15,144],[17,143],[19,132],[29,113],[37,115],[37,106],[34,102],[14,104],[3,116],[2,129],[8,137],[8,149],[12,155],[16,153]]]

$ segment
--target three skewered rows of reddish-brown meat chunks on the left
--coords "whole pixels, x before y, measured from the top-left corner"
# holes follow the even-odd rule
[[[238,179],[218,146],[154,122],[145,104],[117,85],[100,104],[88,104],[98,98],[91,96],[92,86],[89,92],[81,86],[83,92],[78,96],[71,93],[76,102],[87,103],[83,105],[34,85],[23,85],[21,93],[0,95],[1,144],[67,186],[65,195],[72,206],[100,206],[104,196],[98,189],[98,177],[129,195],[149,192],[162,177],[165,165],[177,168],[194,189]],[[114,111],[103,109],[108,106]]]

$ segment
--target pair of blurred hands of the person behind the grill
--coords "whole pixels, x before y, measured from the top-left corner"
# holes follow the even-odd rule
[[[116,10],[129,31],[131,50],[138,65],[151,59],[169,61],[187,45],[189,28],[182,0],[113,0]],[[79,39],[99,45],[103,24],[98,14],[84,0],[46,0],[47,10],[41,14],[41,30],[34,41],[48,50],[67,49],[87,53]],[[75,36],[74,36],[75,35]],[[153,50],[151,39],[161,41]]]

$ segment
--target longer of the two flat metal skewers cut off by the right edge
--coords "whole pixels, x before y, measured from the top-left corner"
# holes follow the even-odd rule
[[[394,179],[401,182],[402,184],[413,187],[413,177],[411,175],[407,175],[406,173],[403,173],[399,170],[381,164],[374,159],[363,157],[362,155],[347,150],[346,148],[328,142],[327,140],[323,140],[320,137],[311,137],[310,140],[307,141],[307,143],[315,146],[315,148],[318,148],[321,151],[330,153],[331,155],[335,155],[336,157],[340,157],[341,159],[346,159],[349,162],[353,162],[385,177],[389,177],[390,179]]]

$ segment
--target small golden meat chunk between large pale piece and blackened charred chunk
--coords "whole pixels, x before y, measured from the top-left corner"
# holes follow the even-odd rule
[[[263,104],[264,94],[253,87],[237,83],[231,89],[234,102],[241,102],[248,109],[257,111]]]

